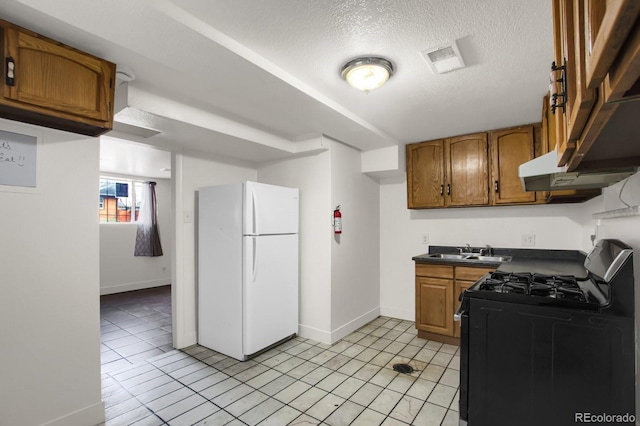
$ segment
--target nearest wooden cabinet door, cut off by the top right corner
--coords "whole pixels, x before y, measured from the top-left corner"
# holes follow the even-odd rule
[[[578,0],[576,0],[578,2]],[[580,0],[586,10],[584,31],[587,87],[597,89],[640,14],[638,0]]]

